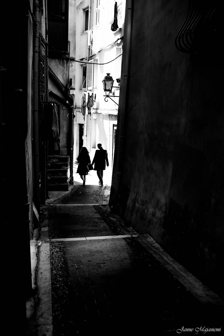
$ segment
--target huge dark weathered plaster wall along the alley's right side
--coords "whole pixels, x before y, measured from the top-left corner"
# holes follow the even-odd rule
[[[187,8],[134,3],[124,166],[118,186],[116,150],[110,205],[220,292],[223,64],[218,48],[190,56],[175,47]]]

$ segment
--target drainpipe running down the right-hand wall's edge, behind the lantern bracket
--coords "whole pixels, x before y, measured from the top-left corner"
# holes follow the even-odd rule
[[[124,64],[123,71],[123,83],[121,87],[123,93],[121,99],[119,99],[119,112],[121,116],[120,122],[120,146],[119,146],[119,158],[118,158],[118,172],[117,178],[119,179],[123,172],[124,164],[124,142],[126,137],[126,115],[127,115],[127,91],[128,91],[128,80],[129,80],[129,61],[130,61],[130,44],[131,44],[131,28],[132,28],[132,0],[126,1],[126,15],[125,15],[125,28],[124,28],[124,57],[122,58],[122,64]]]

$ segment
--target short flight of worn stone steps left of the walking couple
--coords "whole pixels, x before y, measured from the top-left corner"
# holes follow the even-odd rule
[[[70,158],[67,155],[48,155],[48,191],[68,191]]]

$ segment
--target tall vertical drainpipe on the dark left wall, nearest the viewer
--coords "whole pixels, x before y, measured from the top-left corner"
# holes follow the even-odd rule
[[[34,162],[34,204],[40,214],[40,172],[39,172],[39,113],[38,113],[38,62],[39,62],[39,28],[40,28],[40,7],[39,1],[35,0],[35,29],[34,53],[33,53],[33,162]]]

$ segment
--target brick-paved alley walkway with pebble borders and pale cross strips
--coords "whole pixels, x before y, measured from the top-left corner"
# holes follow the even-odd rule
[[[48,206],[53,335],[176,334],[211,321],[210,308],[102,205],[106,189],[80,185]]]

